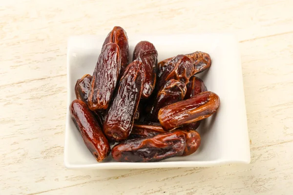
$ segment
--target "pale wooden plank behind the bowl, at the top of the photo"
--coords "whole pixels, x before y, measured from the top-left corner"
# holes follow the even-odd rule
[[[106,35],[114,25],[123,26],[128,33],[232,32],[239,40],[293,31],[289,0],[109,2],[115,6],[72,0],[3,6],[1,47],[10,49],[2,53],[0,85],[65,75],[67,38]],[[28,69],[30,72],[23,74]],[[11,70],[16,75],[13,80],[9,79]]]

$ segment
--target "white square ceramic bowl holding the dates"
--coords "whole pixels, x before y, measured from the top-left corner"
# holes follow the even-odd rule
[[[141,40],[152,42],[158,61],[195,51],[209,53],[209,70],[198,75],[208,88],[219,95],[216,114],[205,119],[198,132],[202,137],[198,151],[190,156],[172,157],[160,162],[115,162],[108,158],[97,162],[86,148],[70,117],[69,105],[76,99],[74,86],[84,74],[92,74],[106,35],[76,36],[68,40],[68,98],[65,129],[64,164],[70,169],[145,169],[170,167],[206,167],[230,163],[250,163],[250,146],[238,43],[227,34],[146,36],[128,35],[129,59]]]

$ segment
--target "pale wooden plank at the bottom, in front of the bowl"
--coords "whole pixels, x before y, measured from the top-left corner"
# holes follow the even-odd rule
[[[230,165],[195,169],[155,169],[141,174],[126,174],[94,181],[84,181],[80,185],[59,188],[41,195],[86,194],[94,190],[101,194],[286,194],[292,191],[293,152],[282,151],[293,147],[293,142],[270,146],[265,150],[252,151],[250,165]],[[280,151],[276,153],[275,151]],[[281,160],[280,160],[281,159]],[[282,164],[282,166],[280,166]],[[286,172],[284,171],[286,170]],[[105,175],[114,171],[102,171]],[[102,174],[100,173],[100,174]],[[146,177],[146,175],[148,177]],[[110,180],[110,181],[109,181]],[[280,182],[282,181],[282,182]],[[104,188],[101,188],[104,186]],[[80,188],[79,188],[80,187]],[[165,192],[165,193],[164,193]]]

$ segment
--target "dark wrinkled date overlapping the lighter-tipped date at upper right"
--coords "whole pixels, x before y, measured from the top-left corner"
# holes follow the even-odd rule
[[[164,65],[163,65],[164,64]],[[194,66],[191,59],[186,55],[178,55],[171,60],[158,63],[158,84],[160,89],[170,79],[180,80],[184,83],[189,82],[189,78],[194,74]]]

